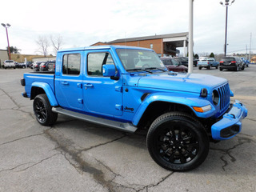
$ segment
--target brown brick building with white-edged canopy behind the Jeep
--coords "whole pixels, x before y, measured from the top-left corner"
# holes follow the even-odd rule
[[[154,50],[159,56],[179,54],[178,47],[183,47],[183,56],[186,55],[188,46],[188,34],[161,34],[139,38],[122,38],[111,42],[96,42],[91,46],[118,45],[118,46],[140,46]]]

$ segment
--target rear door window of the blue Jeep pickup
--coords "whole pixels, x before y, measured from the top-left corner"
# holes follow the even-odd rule
[[[64,54],[62,60],[62,74],[78,75],[80,74],[81,55]]]

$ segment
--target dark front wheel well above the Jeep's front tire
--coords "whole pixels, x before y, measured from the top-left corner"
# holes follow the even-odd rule
[[[146,108],[146,111],[138,122],[138,128],[148,129],[156,118],[171,111],[185,112],[186,114],[194,116],[194,112],[189,106],[173,102],[152,102],[150,106]]]

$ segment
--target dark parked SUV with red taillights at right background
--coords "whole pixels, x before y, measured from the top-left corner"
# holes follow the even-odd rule
[[[244,70],[245,63],[239,57],[223,57],[219,62],[219,70]]]

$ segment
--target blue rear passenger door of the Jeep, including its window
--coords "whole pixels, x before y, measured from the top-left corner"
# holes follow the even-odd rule
[[[55,91],[63,108],[82,110],[82,51],[65,52],[58,58],[61,65],[55,75]]]

